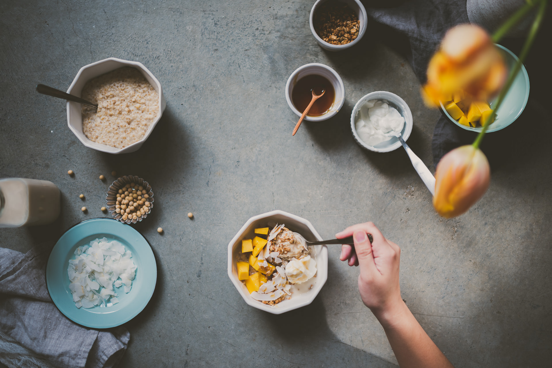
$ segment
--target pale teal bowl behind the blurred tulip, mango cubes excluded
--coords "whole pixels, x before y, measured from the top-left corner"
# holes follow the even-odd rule
[[[502,53],[502,56],[504,57],[508,72],[511,71],[516,65],[518,57],[516,56],[516,54],[514,54],[512,51],[508,50],[502,45],[496,45],[496,47],[498,47],[498,49]],[[519,115],[521,115],[523,109],[525,109],[525,105],[527,105],[528,99],[529,75],[527,75],[527,70],[522,64],[521,69],[516,75],[516,79],[514,79],[514,82],[512,83],[510,90],[506,94],[504,101],[502,101],[502,105],[498,108],[498,111],[496,112],[495,121],[493,121],[491,125],[489,125],[487,133],[500,131],[500,129],[504,129],[508,125],[516,121]],[[483,127],[472,128],[461,125],[458,121],[454,120],[452,116],[449,115],[447,110],[445,110],[443,102],[440,102],[440,105],[443,113],[447,115],[450,121],[458,125],[460,128],[466,129],[466,131],[473,131],[477,133],[481,132],[481,129],[483,129]],[[491,101],[490,106],[491,109],[495,108],[496,98]]]

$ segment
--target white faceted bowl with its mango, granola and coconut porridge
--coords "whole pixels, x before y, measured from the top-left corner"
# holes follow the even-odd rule
[[[312,224],[275,210],[247,220],[228,245],[228,276],[245,302],[279,315],[311,304],[328,278],[328,249]]]

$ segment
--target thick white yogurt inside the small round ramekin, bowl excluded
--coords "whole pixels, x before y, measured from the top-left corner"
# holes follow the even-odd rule
[[[386,100],[369,100],[360,106],[355,116],[354,126],[364,143],[374,146],[400,133],[405,126],[405,118]]]

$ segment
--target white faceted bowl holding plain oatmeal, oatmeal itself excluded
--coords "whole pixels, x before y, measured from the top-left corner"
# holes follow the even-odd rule
[[[159,107],[159,114],[157,115],[155,120],[153,120],[142,139],[140,139],[138,142],[129,144],[125,148],[116,148],[109,145],[92,142],[92,140],[88,139],[82,131],[81,104],[79,104],[78,102],[67,101],[67,125],[69,126],[69,129],[71,129],[71,131],[75,134],[75,136],[77,136],[78,140],[80,140],[82,144],[86,145],[86,147],[112,154],[134,152],[142,147],[142,144],[146,142],[146,139],[150,136],[153,128],[155,128],[157,122],[161,119],[161,115],[163,115],[163,111],[165,110],[165,107],[167,105],[165,102],[165,97],[163,95],[163,89],[161,88],[161,83],[159,83],[157,78],[155,78],[155,76],[148,70],[148,68],[144,66],[144,64],[137,61],[128,61],[115,57],[110,57],[92,64],[85,65],[81,68],[81,70],[78,71],[75,79],[73,79],[73,83],[71,83],[69,89],[67,89],[67,93],[73,96],[81,97],[82,88],[84,87],[84,84],[88,82],[88,80],[98,77],[99,75],[114,71],[115,69],[127,66],[138,69],[140,73],[144,75],[146,80],[152,85],[152,87],[157,91],[157,94],[159,95],[159,100],[157,102]]]

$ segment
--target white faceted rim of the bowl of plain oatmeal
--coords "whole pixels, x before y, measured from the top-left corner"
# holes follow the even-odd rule
[[[155,75],[153,75],[153,73],[150,72],[150,69],[146,68],[144,66],[144,64],[142,64],[140,62],[137,62],[137,61],[124,60],[124,59],[119,59],[119,58],[116,58],[116,57],[109,57],[107,59],[103,59],[103,60],[88,64],[88,65],[85,65],[81,69],[79,69],[77,75],[75,75],[75,78],[73,79],[73,82],[71,83],[71,85],[67,89],[67,93],[71,94],[71,95],[74,95],[74,96],[77,96],[77,97],[81,97],[82,91],[79,91],[81,93],[79,93],[78,95],[73,94],[71,92],[72,92],[73,88],[75,87],[75,84],[77,84],[79,78],[81,78],[81,74],[83,73],[83,71],[90,68],[90,67],[93,67],[93,66],[96,66],[98,64],[102,64],[102,63],[105,63],[105,62],[108,62],[108,61],[115,61],[115,62],[119,62],[121,64],[127,64],[127,65],[130,65],[130,66],[134,66],[137,69],[139,69],[142,73],[146,73],[153,80],[153,82],[156,84],[157,94],[159,96],[159,100],[158,100],[158,104],[157,104],[158,108],[159,108],[159,111],[160,111],[159,115],[153,121],[153,123],[150,125],[150,128],[148,128],[148,130],[144,134],[144,138],[140,139],[137,142],[129,144],[128,146],[126,146],[124,148],[110,147],[110,146],[105,145],[105,144],[92,142],[92,140],[86,138],[86,136],[84,137],[85,140],[83,140],[77,134],[77,130],[75,129],[75,127],[73,127],[71,125],[71,121],[70,121],[70,106],[71,106],[71,104],[78,104],[78,102],[67,101],[67,105],[66,105],[67,106],[67,126],[69,127],[69,129],[71,129],[73,134],[75,134],[75,136],[82,142],[82,144],[84,144],[88,148],[92,148],[92,149],[95,149],[95,150],[98,150],[98,151],[102,151],[102,152],[106,152],[106,153],[112,153],[112,154],[133,152],[136,149],[140,148],[141,145],[144,144],[146,139],[150,136],[151,132],[153,131],[153,128],[155,128],[155,126],[157,125],[157,122],[161,119],[161,116],[163,115],[163,111],[164,111],[165,106],[166,106],[166,104],[164,103],[163,89],[161,87],[161,83],[159,82],[159,80],[157,78],[155,78]],[[113,70],[115,70],[115,69],[113,69]],[[99,75],[102,75],[102,74],[98,74],[95,77],[98,77]],[[95,77],[92,77],[92,78],[95,78]]]

